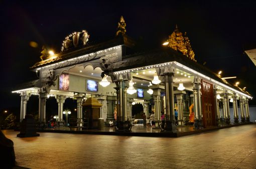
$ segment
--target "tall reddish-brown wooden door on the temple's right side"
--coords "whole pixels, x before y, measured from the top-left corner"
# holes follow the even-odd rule
[[[214,95],[213,84],[201,80],[202,92],[202,114],[203,125],[205,128],[216,125],[215,111],[214,111]]]

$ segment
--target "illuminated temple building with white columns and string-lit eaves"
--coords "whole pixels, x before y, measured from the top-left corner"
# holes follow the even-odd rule
[[[115,37],[108,41],[88,44],[89,32],[82,30],[64,39],[61,52],[48,53],[43,47],[41,61],[31,67],[39,79],[13,91],[21,96],[20,120],[25,118],[29,97],[38,94],[41,122],[47,121],[49,96],[56,98],[60,122],[67,97],[76,99],[77,118],[88,117],[83,108],[86,101],[98,102],[100,110],[93,118],[106,123],[114,118],[115,108],[118,120],[133,118],[136,104],[147,116],[154,111],[158,121],[164,112],[170,121],[166,130],[175,129],[175,109],[180,125],[189,121],[196,127],[229,124],[230,115],[234,123],[249,121],[252,96],[197,63],[186,32],[177,25],[162,47],[147,51],[138,49],[125,26],[121,17]]]

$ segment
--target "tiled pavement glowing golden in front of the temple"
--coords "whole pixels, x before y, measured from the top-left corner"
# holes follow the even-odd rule
[[[256,124],[178,138],[3,132],[28,168],[256,168]]]

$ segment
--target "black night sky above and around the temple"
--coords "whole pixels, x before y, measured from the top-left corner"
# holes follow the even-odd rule
[[[0,110],[20,106],[20,97],[11,90],[36,78],[29,67],[40,61],[42,45],[60,51],[65,36],[82,29],[89,32],[89,41],[114,37],[120,15],[126,34],[149,48],[159,47],[178,24],[187,32],[199,63],[206,62],[215,72],[222,69],[224,76],[237,76],[241,87],[256,96],[255,66],[243,54],[244,46],[256,41],[253,0],[0,0],[0,8]],[[38,47],[31,47],[30,41]]]

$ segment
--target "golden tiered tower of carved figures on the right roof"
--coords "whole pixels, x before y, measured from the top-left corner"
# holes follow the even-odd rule
[[[181,51],[184,55],[196,61],[195,53],[192,50],[190,40],[187,36],[187,32],[185,32],[184,35],[182,35],[182,32],[180,32],[180,30],[178,29],[177,24],[175,26],[175,30],[172,32],[171,35],[169,35],[168,42],[169,47],[171,47],[174,50]]]

